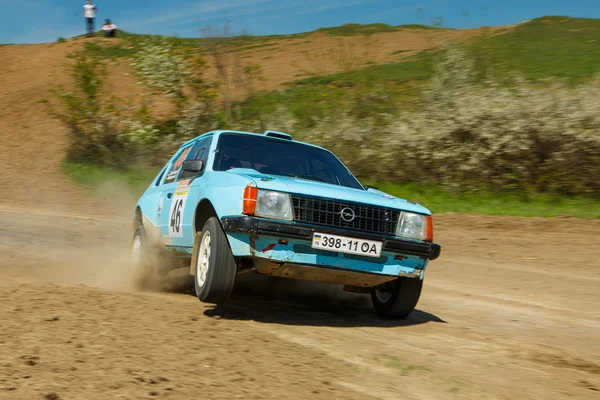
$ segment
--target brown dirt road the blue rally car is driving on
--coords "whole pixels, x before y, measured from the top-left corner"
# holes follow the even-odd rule
[[[438,216],[401,322],[261,277],[216,308],[135,292],[126,218],[3,206],[0,226],[0,398],[600,398],[597,220]]]

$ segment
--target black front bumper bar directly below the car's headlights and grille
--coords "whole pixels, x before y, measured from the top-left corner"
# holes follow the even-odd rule
[[[418,243],[407,240],[390,239],[376,234],[347,231],[330,227],[314,227],[298,223],[269,221],[256,217],[223,217],[221,224],[226,233],[246,233],[265,235],[282,239],[300,239],[312,241],[315,231],[332,235],[351,236],[359,239],[383,242],[383,251],[387,253],[416,256],[426,260],[435,260],[440,256],[441,246],[435,243]]]

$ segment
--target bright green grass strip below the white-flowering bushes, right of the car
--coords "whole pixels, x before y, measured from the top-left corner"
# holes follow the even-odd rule
[[[454,194],[427,185],[375,185],[391,195],[411,200],[434,213],[479,213],[520,217],[600,218],[600,200],[540,193]]]

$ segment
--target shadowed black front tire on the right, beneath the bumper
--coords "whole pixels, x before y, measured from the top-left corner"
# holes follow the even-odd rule
[[[381,318],[406,318],[417,306],[423,281],[419,278],[398,278],[371,289],[375,313]]]

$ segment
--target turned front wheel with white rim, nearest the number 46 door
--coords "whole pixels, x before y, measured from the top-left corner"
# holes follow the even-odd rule
[[[237,265],[217,218],[209,218],[202,232],[196,234],[192,259],[196,264],[194,286],[198,299],[212,304],[227,302],[235,284]]]

